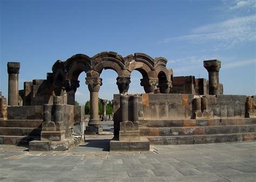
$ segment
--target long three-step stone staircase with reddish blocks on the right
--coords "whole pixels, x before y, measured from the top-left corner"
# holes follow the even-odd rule
[[[147,120],[139,130],[153,145],[254,141],[256,118]]]

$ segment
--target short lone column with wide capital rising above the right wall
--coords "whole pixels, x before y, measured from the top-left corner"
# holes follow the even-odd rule
[[[219,95],[220,94],[219,71],[221,67],[221,61],[219,60],[204,61],[204,67],[208,71],[209,94]]]

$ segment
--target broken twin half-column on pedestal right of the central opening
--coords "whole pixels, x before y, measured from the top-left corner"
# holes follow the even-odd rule
[[[121,121],[119,141],[139,141],[139,104],[137,95],[120,96]]]

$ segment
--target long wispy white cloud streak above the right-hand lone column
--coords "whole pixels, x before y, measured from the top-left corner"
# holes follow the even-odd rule
[[[256,15],[238,17],[224,22],[208,24],[192,29],[192,33],[186,36],[164,39],[163,43],[170,41],[191,41],[192,43],[218,42],[220,47],[231,48],[241,43],[256,40],[255,33]]]

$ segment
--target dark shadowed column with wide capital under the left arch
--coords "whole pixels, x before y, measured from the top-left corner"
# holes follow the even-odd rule
[[[68,94],[67,103],[69,105],[75,105],[75,93],[79,86],[78,80],[65,80],[64,87],[66,89],[66,93]]]

